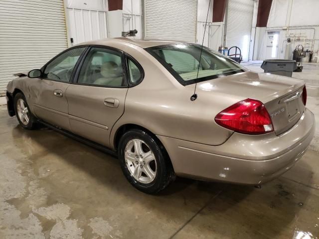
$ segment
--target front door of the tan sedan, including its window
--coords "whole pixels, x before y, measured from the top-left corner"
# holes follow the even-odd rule
[[[39,119],[70,130],[65,92],[75,65],[86,47],[67,50],[42,68],[42,77],[29,85],[34,114]]]

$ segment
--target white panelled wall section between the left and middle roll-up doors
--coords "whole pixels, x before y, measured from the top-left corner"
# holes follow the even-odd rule
[[[138,30],[142,37],[141,0],[113,1],[109,11],[108,0],[67,0],[68,35],[71,45],[80,42],[120,37],[122,31]],[[115,8],[114,8],[115,7]],[[117,10],[114,10],[117,9]]]

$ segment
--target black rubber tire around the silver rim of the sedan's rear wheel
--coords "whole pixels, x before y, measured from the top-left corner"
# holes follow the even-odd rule
[[[132,139],[143,140],[147,146],[152,150],[156,160],[156,176],[151,183],[141,183],[137,181],[131,174],[125,159],[126,145]],[[131,129],[123,134],[118,146],[118,155],[121,163],[122,171],[127,180],[138,190],[148,193],[156,194],[163,190],[168,184],[175,179],[175,173],[171,165],[170,159],[164,147],[158,142],[158,139],[153,138],[148,132],[141,129]]]

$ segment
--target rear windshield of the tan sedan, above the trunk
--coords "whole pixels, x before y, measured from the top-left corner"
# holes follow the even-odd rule
[[[246,71],[233,60],[193,43],[145,48],[182,85],[211,80]],[[198,75],[197,75],[198,74]]]

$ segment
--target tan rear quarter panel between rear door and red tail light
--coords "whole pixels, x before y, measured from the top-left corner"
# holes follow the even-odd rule
[[[210,96],[190,101],[195,85],[182,86],[149,53],[140,47],[122,49],[143,67],[144,80],[129,88],[123,116],[114,125],[110,142],[124,124],[143,126],[157,135],[178,138],[208,145],[225,142],[233,131],[217,125],[214,117],[223,110],[225,102],[214,102]],[[222,104],[220,104],[222,102]],[[231,100],[231,104],[236,99]],[[227,104],[227,102],[226,102]]]

